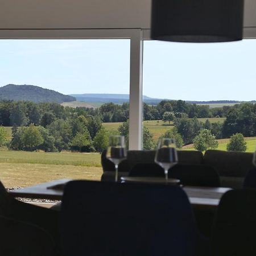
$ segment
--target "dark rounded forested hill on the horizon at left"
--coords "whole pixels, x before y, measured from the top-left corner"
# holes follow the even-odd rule
[[[0,87],[0,100],[61,103],[75,101],[76,98],[35,85],[8,84]]]

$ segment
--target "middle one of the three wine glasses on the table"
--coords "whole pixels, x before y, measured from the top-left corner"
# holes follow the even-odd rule
[[[168,170],[177,164],[177,150],[175,139],[160,138],[155,153],[155,163],[164,169],[166,183],[168,182]]]

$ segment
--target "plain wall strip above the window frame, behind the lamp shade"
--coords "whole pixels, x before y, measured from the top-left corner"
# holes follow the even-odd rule
[[[0,0],[0,28],[150,28],[151,0]],[[256,0],[245,0],[245,27]]]

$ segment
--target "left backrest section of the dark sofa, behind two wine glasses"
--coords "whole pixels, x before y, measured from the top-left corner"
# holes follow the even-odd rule
[[[199,151],[177,151],[179,163],[181,164],[202,164],[203,154]],[[154,150],[128,150],[127,159],[119,164],[118,171],[129,172],[138,163],[154,163]],[[114,171],[114,164],[106,158],[106,151],[101,154],[101,164],[103,171]]]

